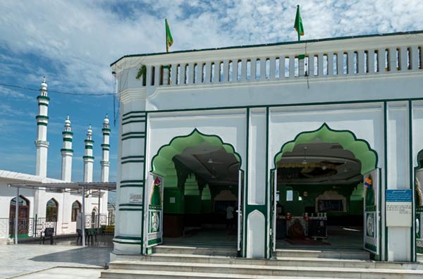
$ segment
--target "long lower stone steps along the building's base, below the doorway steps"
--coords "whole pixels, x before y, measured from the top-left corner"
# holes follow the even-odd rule
[[[102,278],[280,278],[300,276],[302,278],[423,278],[423,270],[399,270],[386,268],[330,268],[309,266],[262,266],[252,264],[222,263],[173,263],[161,261],[116,261],[110,270],[102,272]],[[130,274],[130,277],[128,277]],[[165,276],[165,277],[163,277]],[[207,277],[205,277],[207,276]],[[240,277],[236,277],[240,276]],[[228,278],[228,277],[223,277]]]

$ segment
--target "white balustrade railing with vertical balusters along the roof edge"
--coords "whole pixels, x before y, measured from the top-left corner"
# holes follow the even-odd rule
[[[377,37],[376,37],[377,40]],[[332,49],[336,48],[336,40]],[[397,44],[403,44],[400,40]],[[302,44],[304,46],[305,44]],[[423,42],[422,42],[423,45]],[[299,78],[321,77],[348,77],[363,75],[378,75],[381,73],[405,73],[422,70],[422,45],[396,45],[376,46],[363,48],[357,44],[340,47],[349,50],[321,51],[318,47],[307,50],[305,47],[295,46],[296,54],[277,54],[283,48],[274,52],[274,55],[251,54],[227,58],[228,52],[214,51],[216,58],[207,58],[204,61],[186,62],[178,61],[178,56],[166,56],[166,63],[156,64],[149,59],[145,64],[145,77],[141,78],[142,87],[178,87],[185,85],[216,85],[235,82],[265,82],[271,80],[295,80]],[[360,46],[360,47],[358,47]],[[263,46],[266,47],[266,46]],[[260,49],[260,47],[257,47]],[[274,48],[275,49],[275,48]],[[285,47],[285,49],[288,49]],[[220,52],[219,52],[220,51]],[[240,51],[243,52],[243,51]],[[244,51],[245,52],[245,51]],[[251,53],[252,51],[250,51]],[[263,51],[264,53],[265,51]],[[218,58],[219,54],[223,58]],[[231,53],[235,53],[232,49]],[[201,57],[192,53],[196,58]],[[182,59],[182,58],[179,58]],[[164,61],[164,57],[158,61]],[[148,65],[150,64],[150,65]],[[156,64],[156,65],[154,65]]]

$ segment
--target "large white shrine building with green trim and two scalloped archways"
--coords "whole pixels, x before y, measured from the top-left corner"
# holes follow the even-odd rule
[[[113,254],[212,231],[202,244],[247,258],[314,236],[415,261],[422,48],[417,31],[112,63],[121,102]]]

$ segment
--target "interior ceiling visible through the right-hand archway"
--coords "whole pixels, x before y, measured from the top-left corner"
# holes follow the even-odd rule
[[[288,167],[288,164],[292,163]],[[284,184],[352,184],[362,181],[361,163],[341,144],[297,144],[277,162],[278,182]]]

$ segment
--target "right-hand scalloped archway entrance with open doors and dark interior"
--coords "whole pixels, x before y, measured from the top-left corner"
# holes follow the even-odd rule
[[[271,170],[273,250],[277,242],[290,248],[364,248],[377,256],[377,163],[367,141],[326,123],[283,144]]]

